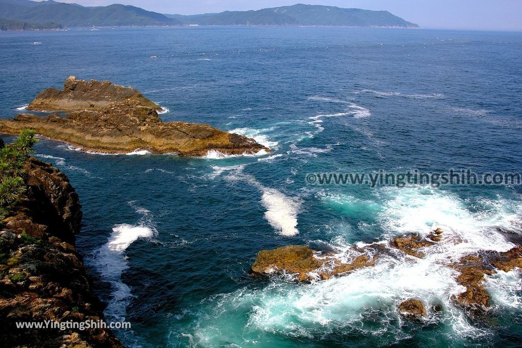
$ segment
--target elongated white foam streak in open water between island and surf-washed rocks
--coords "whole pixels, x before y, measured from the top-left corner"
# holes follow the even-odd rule
[[[209,176],[216,178],[224,172],[228,175],[226,179],[230,182],[246,182],[261,191],[261,204],[265,207],[265,219],[277,233],[283,236],[294,236],[299,233],[297,229],[297,217],[301,207],[299,198],[284,195],[281,191],[266,187],[259,183],[252,175],[244,174],[244,166],[218,167],[212,166],[214,170]]]

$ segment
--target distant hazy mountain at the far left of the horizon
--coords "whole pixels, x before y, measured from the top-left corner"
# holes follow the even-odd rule
[[[0,0],[0,17],[32,23],[55,22],[66,27],[172,26],[179,20],[139,7],[110,5],[84,7],[53,0]]]

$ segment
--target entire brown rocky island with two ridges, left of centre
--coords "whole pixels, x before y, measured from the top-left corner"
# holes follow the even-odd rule
[[[162,122],[161,107],[131,87],[109,81],[84,81],[70,76],[63,90],[46,89],[27,107],[33,111],[65,111],[41,117],[20,114],[0,119],[0,133],[18,134],[25,128],[52,140],[64,141],[84,151],[177,153],[204,156],[254,154],[270,149],[254,139],[230,134],[205,124]]]

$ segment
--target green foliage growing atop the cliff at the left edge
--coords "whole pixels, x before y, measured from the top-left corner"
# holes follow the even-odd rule
[[[32,129],[23,129],[13,143],[0,149],[0,225],[26,190],[23,165],[34,151],[35,135]]]

